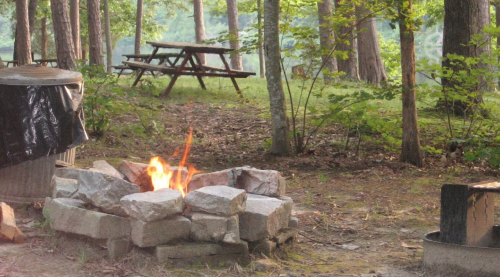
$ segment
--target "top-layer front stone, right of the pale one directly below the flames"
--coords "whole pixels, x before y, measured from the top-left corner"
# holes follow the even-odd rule
[[[209,186],[186,194],[184,202],[193,211],[230,216],[245,210],[247,193],[227,186]]]

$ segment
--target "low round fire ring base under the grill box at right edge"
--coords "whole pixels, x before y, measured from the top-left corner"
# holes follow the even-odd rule
[[[436,272],[500,276],[500,226],[493,227],[496,247],[475,247],[443,243],[439,231],[424,237],[424,267]]]

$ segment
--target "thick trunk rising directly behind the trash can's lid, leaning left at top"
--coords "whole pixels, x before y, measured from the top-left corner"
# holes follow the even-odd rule
[[[71,39],[71,23],[66,0],[51,0],[52,25],[56,43],[57,66],[61,69],[76,68],[75,47]]]

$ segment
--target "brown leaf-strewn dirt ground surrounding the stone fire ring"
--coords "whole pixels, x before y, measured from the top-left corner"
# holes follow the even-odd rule
[[[189,162],[204,171],[249,165],[279,170],[287,179],[299,219],[298,236],[287,249],[268,258],[273,266],[173,267],[158,264],[147,251],[134,249],[120,261],[107,258],[98,242],[50,230],[36,205],[14,205],[21,244],[0,243],[4,276],[441,276],[422,266],[422,238],[439,229],[440,186],[493,179],[497,172],[462,163],[459,157],[426,157],[424,168],[399,163],[381,146],[345,149],[345,130],[328,126],[311,140],[306,154],[266,154],[270,123],[246,105],[148,104],[154,124],[137,115],[113,117],[103,136],[77,149],[76,164],[95,160],[117,165],[127,159],[147,162],[160,155],[172,164],[189,128],[194,143]],[[153,121],[151,121],[153,122]],[[148,134],[138,134],[134,126]],[[149,127],[148,127],[149,126]],[[149,129],[148,129],[149,128]],[[355,145],[355,139],[350,144]],[[35,207],[36,206],[36,207]],[[446,276],[446,275],[442,275]]]

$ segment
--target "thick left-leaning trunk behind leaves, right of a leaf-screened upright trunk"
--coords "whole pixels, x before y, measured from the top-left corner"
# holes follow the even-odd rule
[[[375,17],[364,5],[356,7],[358,19],[358,59],[359,77],[371,84],[387,81],[384,64],[380,56]]]

